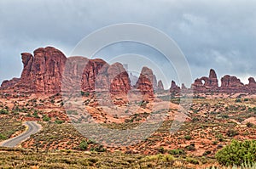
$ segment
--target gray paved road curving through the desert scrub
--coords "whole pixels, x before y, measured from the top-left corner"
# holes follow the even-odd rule
[[[15,138],[10,138],[3,142],[0,146],[3,147],[15,147],[16,145],[20,144],[22,141],[29,138],[32,134],[38,132],[40,130],[40,126],[38,123],[34,121],[26,121],[25,125],[28,127],[26,132],[22,132],[19,136],[16,136]]]

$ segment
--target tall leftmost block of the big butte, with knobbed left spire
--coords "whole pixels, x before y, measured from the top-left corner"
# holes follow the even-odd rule
[[[34,56],[22,53],[23,70],[20,79],[4,82],[1,87],[20,92],[59,93],[61,73],[65,67],[66,56],[52,47],[38,48]]]

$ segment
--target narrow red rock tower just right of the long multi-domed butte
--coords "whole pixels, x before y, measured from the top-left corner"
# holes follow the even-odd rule
[[[154,74],[148,67],[143,67],[141,74],[136,83],[136,88],[140,90],[143,95],[143,100],[150,101],[154,99]]]

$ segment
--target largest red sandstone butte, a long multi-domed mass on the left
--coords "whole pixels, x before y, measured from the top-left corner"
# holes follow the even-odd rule
[[[111,94],[126,94],[131,89],[129,76],[119,63],[108,65],[102,59],[83,57],[71,57],[67,61],[69,59],[60,50],[52,47],[38,48],[33,55],[22,53],[21,58],[24,68],[20,78],[4,81],[1,89],[26,93],[60,93],[65,69],[68,72],[65,80],[70,83],[70,87],[74,83],[73,76],[80,76],[79,91],[93,92],[101,89]]]

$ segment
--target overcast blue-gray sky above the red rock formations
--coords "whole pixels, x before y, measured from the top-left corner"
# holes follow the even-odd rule
[[[218,77],[236,75],[245,83],[248,76],[256,76],[253,0],[3,0],[0,82],[20,76],[21,52],[54,46],[69,56],[92,31],[119,23],[145,24],[164,31],[183,51],[194,79],[207,76],[210,68]],[[98,57],[125,53],[160,58],[146,47],[126,43],[106,48]],[[172,71],[168,78],[177,80]]]

